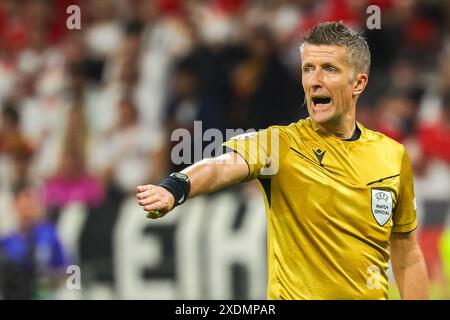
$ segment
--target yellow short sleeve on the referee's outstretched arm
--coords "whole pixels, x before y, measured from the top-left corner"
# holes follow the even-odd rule
[[[247,162],[249,175],[244,181],[270,178],[278,173],[290,149],[289,135],[280,127],[235,136],[223,146],[239,153]]]

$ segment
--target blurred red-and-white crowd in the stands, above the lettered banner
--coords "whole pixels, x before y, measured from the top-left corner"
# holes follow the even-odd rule
[[[71,4],[80,30],[66,27]],[[367,29],[371,4],[381,29]],[[327,20],[368,40],[358,120],[406,145],[430,274],[449,276],[439,259],[449,250],[440,241],[450,209],[450,3],[438,0],[2,0],[1,261],[34,272],[68,264],[52,229],[62,209],[113,210],[137,185],[181,169],[170,161],[176,128],[257,130],[306,117],[298,45]],[[30,266],[40,241],[44,257]]]

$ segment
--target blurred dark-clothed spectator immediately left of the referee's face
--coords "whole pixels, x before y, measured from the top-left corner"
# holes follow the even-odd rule
[[[254,28],[247,41],[249,55],[232,75],[231,127],[259,130],[298,119],[300,89],[278,58],[270,29]]]

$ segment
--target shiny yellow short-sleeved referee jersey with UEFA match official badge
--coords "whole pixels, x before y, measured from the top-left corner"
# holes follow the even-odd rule
[[[257,178],[268,222],[268,299],[387,299],[389,237],[417,227],[403,145],[365,129],[327,136],[310,118],[224,145]]]

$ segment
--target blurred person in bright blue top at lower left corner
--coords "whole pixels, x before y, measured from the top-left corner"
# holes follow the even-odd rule
[[[16,185],[18,230],[0,239],[0,292],[4,299],[49,299],[62,283],[67,253],[45,220],[38,192]]]

